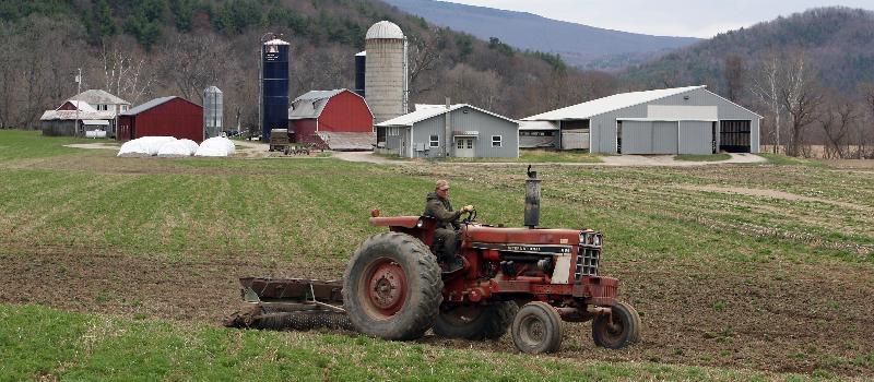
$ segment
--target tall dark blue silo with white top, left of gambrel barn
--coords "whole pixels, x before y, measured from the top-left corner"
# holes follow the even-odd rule
[[[281,39],[261,46],[261,140],[270,140],[271,129],[288,128],[288,49]]]

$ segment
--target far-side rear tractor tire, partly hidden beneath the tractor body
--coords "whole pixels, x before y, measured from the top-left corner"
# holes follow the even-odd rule
[[[516,301],[452,307],[440,311],[434,320],[434,334],[447,338],[498,339],[507,333],[518,311]]]

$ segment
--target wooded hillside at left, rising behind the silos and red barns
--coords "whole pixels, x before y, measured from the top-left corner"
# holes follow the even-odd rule
[[[82,89],[134,105],[155,96],[225,95],[225,123],[257,124],[258,55],[267,32],[292,44],[292,95],[354,85],[367,28],[389,20],[410,39],[411,100],[471,103],[511,117],[613,93],[613,79],[547,53],[428,25],[375,0],[35,0],[0,3],[0,127],[36,127]]]

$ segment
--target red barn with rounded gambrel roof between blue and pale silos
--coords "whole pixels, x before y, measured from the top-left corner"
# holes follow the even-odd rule
[[[332,150],[371,150],[374,114],[364,97],[341,88],[311,91],[288,109],[288,128],[298,143],[324,143]]]

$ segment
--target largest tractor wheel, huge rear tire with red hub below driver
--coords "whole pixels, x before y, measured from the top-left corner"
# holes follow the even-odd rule
[[[343,274],[343,309],[365,334],[415,339],[430,329],[442,301],[437,259],[418,239],[375,235],[352,255]]]

